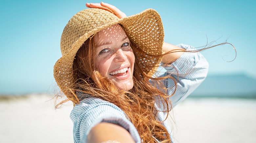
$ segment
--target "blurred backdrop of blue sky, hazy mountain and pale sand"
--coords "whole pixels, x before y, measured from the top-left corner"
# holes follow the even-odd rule
[[[9,140],[8,142],[27,142],[30,135],[37,138],[33,130],[39,129],[38,137],[42,135],[50,139],[36,142],[59,142],[61,139],[63,142],[72,142],[72,122],[68,117],[72,110],[72,103],[57,112],[53,108],[53,101],[48,100],[58,92],[53,78],[53,66],[61,57],[62,31],[75,13],[86,8],[86,2],[100,3],[101,1],[1,1],[0,138],[3,140],[0,139],[0,142],[4,142],[5,139]],[[177,113],[179,113],[176,115],[177,124],[180,122],[181,127],[184,125],[184,128],[178,129],[180,132],[177,134],[180,134],[177,138],[180,139],[177,142],[185,142],[186,138],[190,141],[195,139],[197,142],[208,143],[210,141],[244,142],[245,138],[247,143],[256,141],[254,137],[256,134],[256,46],[253,43],[256,39],[255,1],[106,0],[104,2],[116,6],[127,16],[147,8],[156,9],[163,21],[165,42],[171,44],[183,43],[199,49],[206,44],[216,45],[223,42],[233,44],[236,51],[231,45],[225,44],[202,52],[210,65],[208,77],[188,99],[177,106]],[[210,116],[201,117],[200,115],[209,114],[207,111],[201,112],[202,109],[208,109],[217,117],[223,117],[226,112],[231,113],[231,111],[232,113],[234,111],[236,116],[225,117],[220,120],[222,123],[209,123],[212,125],[209,127],[198,122],[200,119],[201,121],[213,119]],[[241,112],[238,112],[239,109]],[[244,115],[245,111],[250,112]],[[31,116],[32,113],[34,116]],[[191,118],[194,117],[192,113],[199,116],[194,122],[191,122]],[[241,120],[231,124],[229,121],[234,118],[241,118]],[[247,120],[249,118],[254,120]],[[31,122],[31,119],[37,122]],[[37,126],[45,121],[48,122],[44,126]],[[189,126],[190,122],[194,126]],[[226,127],[228,130],[225,132],[216,128],[221,124],[226,125],[227,122],[230,126]],[[241,124],[242,122],[244,124]],[[237,125],[238,123],[240,126]],[[200,128],[195,132],[195,128],[199,126],[204,126],[205,129]],[[29,130],[22,132],[28,127]],[[49,130],[52,131],[51,134]],[[205,135],[205,131],[209,130],[212,132]],[[235,130],[234,134],[229,135]],[[242,134],[239,131],[248,132],[248,134]],[[60,135],[63,136],[54,136],[57,132],[62,133]],[[19,140],[10,140],[9,137],[12,135],[19,135]],[[219,138],[218,136],[221,135],[222,138]],[[234,136],[240,138],[237,139]]]

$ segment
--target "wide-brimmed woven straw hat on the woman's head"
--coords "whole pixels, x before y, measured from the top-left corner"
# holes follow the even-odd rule
[[[73,81],[73,62],[78,49],[91,36],[114,24],[121,24],[133,40],[144,52],[134,54],[144,72],[152,76],[161,62],[148,54],[162,54],[164,39],[163,24],[158,12],[146,9],[138,14],[119,19],[114,14],[98,8],[84,9],[76,13],[65,26],[61,35],[60,49],[62,57],[54,65],[54,78],[62,92],[72,94],[69,90]],[[147,54],[146,54],[147,53]]]

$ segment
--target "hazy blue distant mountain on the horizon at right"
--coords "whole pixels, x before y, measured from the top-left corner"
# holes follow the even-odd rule
[[[244,74],[209,75],[190,97],[256,98],[256,80]]]

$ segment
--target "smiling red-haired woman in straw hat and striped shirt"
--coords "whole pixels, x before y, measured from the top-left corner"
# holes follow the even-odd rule
[[[190,46],[164,43],[154,9],[126,17],[109,4],[86,6],[64,28],[54,66],[75,105],[74,142],[173,142],[168,112],[204,80],[208,63]]]

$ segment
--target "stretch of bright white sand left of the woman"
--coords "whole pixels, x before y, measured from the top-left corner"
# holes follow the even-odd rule
[[[54,109],[51,97],[0,102],[0,143],[72,143],[73,105]]]

